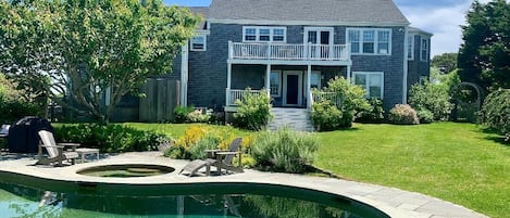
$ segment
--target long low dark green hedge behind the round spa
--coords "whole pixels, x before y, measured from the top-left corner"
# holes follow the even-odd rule
[[[164,134],[123,125],[63,125],[54,128],[54,134],[57,141],[78,142],[84,146],[112,153],[154,151],[162,143],[170,141]]]

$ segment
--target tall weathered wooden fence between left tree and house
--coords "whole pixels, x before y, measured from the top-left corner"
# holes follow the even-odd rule
[[[174,110],[179,105],[181,81],[164,78],[147,79],[141,91],[146,93],[140,99],[140,121],[173,121]]]

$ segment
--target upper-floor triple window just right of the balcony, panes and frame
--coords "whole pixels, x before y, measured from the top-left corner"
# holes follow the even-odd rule
[[[391,54],[391,29],[347,28],[352,54]]]

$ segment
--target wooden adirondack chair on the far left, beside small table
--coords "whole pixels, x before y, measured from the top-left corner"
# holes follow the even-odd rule
[[[39,132],[40,140],[42,144],[39,144],[39,161],[36,165],[50,165],[57,164],[57,166],[62,166],[63,161],[71,161],[74,165],[76,163],[76,158],[78,157],[78,153],[76,152],[76,146],[79,144],[76,143],[61,143],[57,144],[53,138],[53,133],[47,130],[40,130]],[[65,151],[65,146],[71,148],[71,151]],[[46,149],[48,152],[47,157],[42,157],[42,149]]]

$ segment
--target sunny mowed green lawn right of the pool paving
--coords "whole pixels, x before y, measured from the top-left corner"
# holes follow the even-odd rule
[[[510,215],[510,145],[472,124],[361,125],[319,133],[318,167],[349,180]]]

